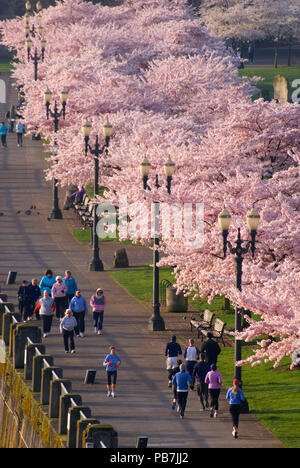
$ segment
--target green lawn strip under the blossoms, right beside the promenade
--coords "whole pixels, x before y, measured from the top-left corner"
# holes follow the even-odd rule
[[[136,270],[108,272],[132,296],[140,302],[152,301],[152,268],[145,265]],[[170,268],[160,269],[160,280],[172,281]],[[212,304],[206,300],[190,301],[199,311],[208,307],[226,322],[226,328],[234,327],[233,311],[224,311],[224,299],[216,297]],[[243,346],[243,359],[251,354],[251,346]],[[224,387],[232,384],[234,373],[234,348],[222,347],[218,360],[224,379]],[[261,366],[243,367],[244,392],[250,411],[278,437],[287,448],[300,448],[300,371],[288,369],[290,359],[285,358],[281,366],[274,369],[272,363]]]

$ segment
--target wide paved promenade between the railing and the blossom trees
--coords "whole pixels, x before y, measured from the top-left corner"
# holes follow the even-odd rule
[[[14,94],[9,99],[13,102]],[[6,108],[0,106],[3,116]],[[210,419],[207,411],[199,411],[195,392],[189,394],[184,420],[171,410],[164,348],[172,331],[149,332],[149,311],[107,272],[88,272],[90,254],[74,240],[66,221],[47,221],[52,194],[50,183],[43,178],[44,167],[40,142],[26,137],[24,147],[18,148],[16,135],[8,135],[8,148],[0,148],[0,285],[16,302],[21,280],[40,279],[43,271],[51,268],[54,274],[70,269],[88,300],[97,287],[104,289],[108,304],[102,336],[94,334],[89,313],[86,337],[76,340],[77,354],[65,355],[56,320],[51,336],[44,339],[47,353],[54,356],[56,366],[63,368],[64,377],[72,379],[72,390],[81,394],[92,416],[113,425],[120,447],[134,447],[136,437],[141,435],[148,436],[151,445],[169,448],[282,447],[250,414],[241,416],[240,438],[233,440],[224,391],[218,419]],[[36,210],[25,214],[32,205],[36,205]],[[105,245],[101,249],[105,259]],[[137,258],[142,260],[143,256]],[[109,262],[107,257],[105,263]],[[18,284],[5,286],[9,270],[18,272]],[[106,397],[102,366],[110,345],[116,346],[123,361],[115,399]],[[88,368],[97,368],[96,383],[91,386],[83,384]]]

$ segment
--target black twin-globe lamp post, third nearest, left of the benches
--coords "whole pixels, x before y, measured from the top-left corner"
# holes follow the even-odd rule
[[[112,134],[112,125],[107,121],[103,125],[103,136],[105,143],[102,147],[99,145],[98,135],[96,135],[96,142],[94,148],[89,144],[89,138],[92,131],[92,125],[86,121],[82,126],[82,133],[85,142],[85,155],[90,152],[94,156],[94,199],[99,195],[99,156],[104,152],[108,153],[108,146]],[[93,211],[93,258],[90,263],[89,271],[104,271],[103,262],[99,255],[99,239],[97,233],[98,215],[96,206]]]

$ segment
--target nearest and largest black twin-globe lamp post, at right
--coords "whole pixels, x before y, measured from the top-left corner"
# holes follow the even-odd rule
[[[257,228],[259,225],[259,214],[258,212],[253,208],[248,214],[247,214],[247,224],[250,230],[250,235],[251,235],[251,240],[247,241],[245,247],[243,247],[244,242],[241,239],[241,231],[240,228],[238,228],[238,237],[237,240],[235,241],[236,247],[233,247],[232,244],[227,240],[228,238],[228,229],[230,226],[231,222],[231,216],[229,212],[226,210],[226,208],[223,209],[223,211],[218,215],[218,223],[219,226],[222,230],[222,235],[223,235],[223,252],[224,252],[224,258],[226,257],[227,254],[227,247],[229,248],[229,251],[231,254],[235,255],[235,262],[236,262],[236,287],[239,291],[242,291],[242,264],[244,257],[249,249],[251,249],[252,252],[252,257],[254,257],[255,253],[255,237],[256,237],[256,232]],[[235,331],[240,332],[242,331],[242,314],[241,314],[241,309],[235,308]],[[240,366],[236,365],[237,361],[241,361],[242,359],[242,342],[241,340],[237,340],[235,338],[235,378],[238,379],[240,382],[242,381],[242,369]]]

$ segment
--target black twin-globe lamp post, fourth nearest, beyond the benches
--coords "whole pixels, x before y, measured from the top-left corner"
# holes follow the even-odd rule
[[[44,100],[45,100],[45,105],[46,105],[46,115],[47,119],[49,119],[49,116],[53,119],[54,123],[54,133],[58,132],[58,124],[59,124],[59,119],[60,117],[63,117],[65,119],[66,116],[66,105],[67,105],[67,100],[68,100],[68,91],[66,89],[63,89],[60,92],[60,101],[62,104],[62,108],[59,111],[57,107],[57,102],[55,101],[54,104],[54,111],[52,112],[50,109],[50,101],[51,101],[52,93],[49,89],[45,91],[44,93]],[[55,140],[56,141],[56,140]],[[50,218],[52,219],[62,219],[62,212],[59,208],[59,203],[58,203],[58,188],[57,188],[57,180],[53,179],[53,207],[52,211],[50,213]]]

